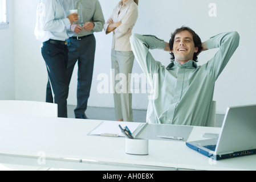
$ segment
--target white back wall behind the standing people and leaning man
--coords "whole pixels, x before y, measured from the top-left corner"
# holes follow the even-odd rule
[[[10,1],[10,0],[9,0]],[[109,18],[113,8],[119,0],[100,0],[105,20]],[[217,16],[209,16],[210,3],[215,3]],[[6,51],[7,55],[15,56],[15,98],[17,100],[44,101],[47,83],[47,72],[42,56],[40,55],[40,43],[35,39],[34,26],[36,15],[35,0],[14,0],[14,52],[11,46]],[[256,1],[231,1],[231,0],[140,0],[139,19],[133,32],[139,34],[154,34],[166,41],[170,39],[170,33],[182,25],[193,28],[200,35],[202,41],[225,31],[238,31],[241,40],[239,48],[234,53],[230,63],[216,82],[214,100],[217,101],[217,113],[225,113],[227,106],[246,105],[256,103],[256,72],[254,71],[254,43]],[[2,31],[1,31],[2,32]],[[90,106],[113,107],[112,94],[99,94],[97,85],[100,73],[109,75],[111,69],[111,35],[104,32],[95,33],[96,59],[94,78],[92,83]],[[1,35],[2,39],[2,35]],[[0,43],[0,48],[6,48]],[[217,50],[201,53],[198,64],[204,64]],[[153,50],[153,56],[162,64],[169,64],[169,53]],[[1,58],[2,60],[2,58]],[[2,63],[1,63],[2,64]],[[6,64],[6,63],[5,63]],[[6,68],[1,66],[1,83],[12,83],[14,79],[13,65]],[[76,105],[76,72],[70,85],[68,104]],[[3,72],[3,73],[2,73]],[[9,73],[11,72],[11,73]],[[135,61],[133,73],[141,73],[141,69]],[[9,75],[9,76],[7,76]],[[11,75],[11,76],[10,76]],[[9,88],[11,92],[12,88]],[[0,91],[3,93],[2,91]],[[8,92],[9,93],[9,92]],[[8,94],[1,94],[8,97]],[[147,109],[148,94],[133,94],[133,108]]]

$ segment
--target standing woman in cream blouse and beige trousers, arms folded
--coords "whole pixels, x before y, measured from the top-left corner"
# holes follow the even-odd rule
[[[132,73],[134,55],[130,44],[132,28],[138,18],[139,0],[122,0],[113,10],[112,15],[104,24],[106,34],[113,32],[112,69],[115,70],[114,102],[117,121],[132,122],[132,94],[129,92],[129,73]],[[126,80],[119,76],[125,75]],[[120,82],[121,88],[120,88]]]

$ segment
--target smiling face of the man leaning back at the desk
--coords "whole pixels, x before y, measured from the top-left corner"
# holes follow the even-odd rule
[[[193,35],[187,30],[176,34],[172,52],[175,60],[180,64],[193,60],[194,53],[198,52],[198,48],[194,47]]]

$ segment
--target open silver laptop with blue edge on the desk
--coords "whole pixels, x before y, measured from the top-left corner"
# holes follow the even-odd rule
[[[186,146],[214,160],[256,154],[256,105],[228,107],[218,138]]]

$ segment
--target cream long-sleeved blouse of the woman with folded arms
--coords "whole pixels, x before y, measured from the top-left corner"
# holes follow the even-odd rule
[[[120,2],[113,10],[110,18],[114,23],[121,22],[120,26],[113,32],[112,49],[115,51],[132,51],[129,38],[138,18],[137,4],[133,0],[128,0],[124,5]],[[107,32],[108,26],[108,23],[104,24],[106,34],[109,33]]]

